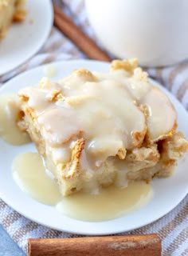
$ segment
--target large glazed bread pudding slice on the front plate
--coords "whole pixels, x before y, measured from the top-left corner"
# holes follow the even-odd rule
[[[169,176],[188,150],[174,106],[135,59],[114,61],[107,73],[82,69],[59,82],[42,78],[18,96],[18,126],[64,196]]]

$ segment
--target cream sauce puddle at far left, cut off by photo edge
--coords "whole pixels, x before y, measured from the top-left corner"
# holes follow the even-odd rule
[[[12,145],[22,145],[30,142],[30,138],[16,123],[20,110],[15,97],[0,96],[0,136]]]

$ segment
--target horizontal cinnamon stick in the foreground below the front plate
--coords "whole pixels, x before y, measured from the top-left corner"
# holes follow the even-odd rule
[[[157,234],[29,239],[29,256],[160,256],[161,240]]]

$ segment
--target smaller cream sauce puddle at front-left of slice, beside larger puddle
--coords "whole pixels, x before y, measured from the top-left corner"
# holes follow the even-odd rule
[[[42,159],[37,153],[23,153],[14,158],[14,180],[32,198],[46,205],[61,201],[56,182],[45,173]]]

